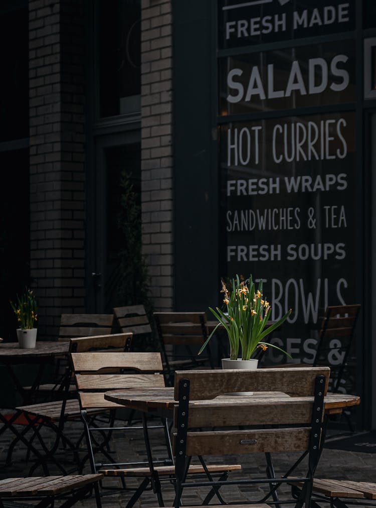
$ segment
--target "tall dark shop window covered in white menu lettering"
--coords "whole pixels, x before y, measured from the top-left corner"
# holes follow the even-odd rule
[[[355,2],[218,7],[220,275],[262,278],[271,319],[292,309],[271,341],[310,363],[320,309],[361,303]]]

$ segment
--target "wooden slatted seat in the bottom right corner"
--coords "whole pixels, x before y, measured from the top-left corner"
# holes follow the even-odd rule
[[[296,488],[295,492],[302,487],[302,484],[299,482],[291,482],[290,485]],[[341,503],[343,503],[340,506],[343,507],[347,506],[346,499],[350,504],[352,499],[364,499],[364,506],[376,505],[376,502],[372,503],[371,501],[376,500],[376,483],[315,478],[313,493],[315,500],[316,496],[319,496],[320,499],[325,498],[326,502],[339,498]]]

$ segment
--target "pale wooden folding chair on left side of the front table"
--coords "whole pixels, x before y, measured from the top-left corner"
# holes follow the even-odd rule
[[[122,483],[121,490],[134,491],[127,503],[127,508],[130,508],[136,500],[140,498],[150,483],[155,481],[155,479],[152,478],[149,461],[146,457],[144,461],[138,459],[136,462],[130,462],[128,458],[128,462],[114,462],[112,457],[106,453],[106,450],[97,447],[94,434],[99,429],[90,426],[87,413],[95,407],[107,409],[120,407],[116,403],[105,400],[104,397],[106,391],[115,388],[132,389],[135,393],[137,389],[141,387],[150,387],[151,390],[164,388],[164,377],[160,374],[160,372],[162,372],[160,353],[113,353],[108,355],[99,355],[97,353],[72,353],[71,358],[79,391],[81,415],[85,425],[91,471],[93,473],[102,472],[106,477],[119,478]],[[118,371],[118,369],[126,370],[128,373],[109,374],[109,369],[111,368],[116,371]],[[107,373],[100,374],[100,372],[104,370],[106,370]],[[138,430],[139,432],[143,432],[146,447],[145,456],[147,456],[152,453],[150,441],[147,437],[148,432],[151,429],[160,429],[160,442],[165,443],[166,455],[155,463],[154,471],[158,474],[158,482],[163,480],[169,481],[170,475],[174,472],[174,458],[170,446],[168,422],[166,418],[162,418],[160,424],[155,422],[151,423],[151,425],[148,424],[146,419],[144,419],[142,426],[122,425],[113,427],[112,430],[114,432],[118,430],[121,432],[126,430]],[[109,462],[100,462],[99,453],[102,453],[104,459],[107,459]],[[219,474],[223,479],[227,478],[230,470],[240,469],[238,464],[213,464],[207,467],[210,472]],[[204,472],[205,469],[201,465],[192,466],[189,470],[190,474],[202,474]],[[125,480],[129,478],[141,479],[141,484],[136,488],[128,488],[125,484]],[[102,485],[102,488],[105,487]],[[110,487],[110,489],[113,490],[113,487]],[[160,505],[163,506],[163,501],[159,492],[157,492],[157,496]]]

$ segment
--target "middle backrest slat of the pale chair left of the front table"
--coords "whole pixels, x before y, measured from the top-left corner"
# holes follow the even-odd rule
[[[137,387],[164,387],[162,374],[76,374],[79,390],[111,390]]]

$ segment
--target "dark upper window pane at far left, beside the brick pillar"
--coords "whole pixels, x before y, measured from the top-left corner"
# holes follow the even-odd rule
[[[1,12],[0,142],[28,137],[27,7]]]

